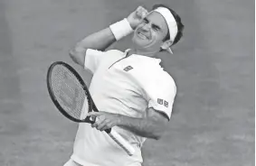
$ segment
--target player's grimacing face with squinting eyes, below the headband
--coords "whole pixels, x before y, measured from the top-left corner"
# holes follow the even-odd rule
[[[157,12],[152,12],[137,26],[132,41],[139,50],[160,51],[167,32],[168,26],[165,18]]]

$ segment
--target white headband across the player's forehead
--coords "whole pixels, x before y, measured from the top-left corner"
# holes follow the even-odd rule
[[[169,29],[170,40],[174,42],[175,36],[178,32],[177,23],[175,21],[174,15],[166,7],[157,7],[154,11],[163,15],[163,17],[165,18]]]

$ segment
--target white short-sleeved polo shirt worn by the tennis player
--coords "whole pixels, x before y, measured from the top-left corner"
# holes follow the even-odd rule
[[[170,118],[176,94],[174,79],[161,68],[161,60],[127,54],[117,50],[86,52],[84,67],[93,73],[90,94],[95,105],[101,111],[137,118],[145,117],[147,108],[153,107]],[[80,124],[71,159],[84,166],[139,166],[146,138],[113,128],[136,149],[133,156],[105,132]]]

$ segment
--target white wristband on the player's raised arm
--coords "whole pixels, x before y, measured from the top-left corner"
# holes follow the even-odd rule
[[[133,28],[131,27],[131,24],[128,22],[127,18],[119,21],[118,23],[111,24],[109,28],[117,41],[133,32]]]

